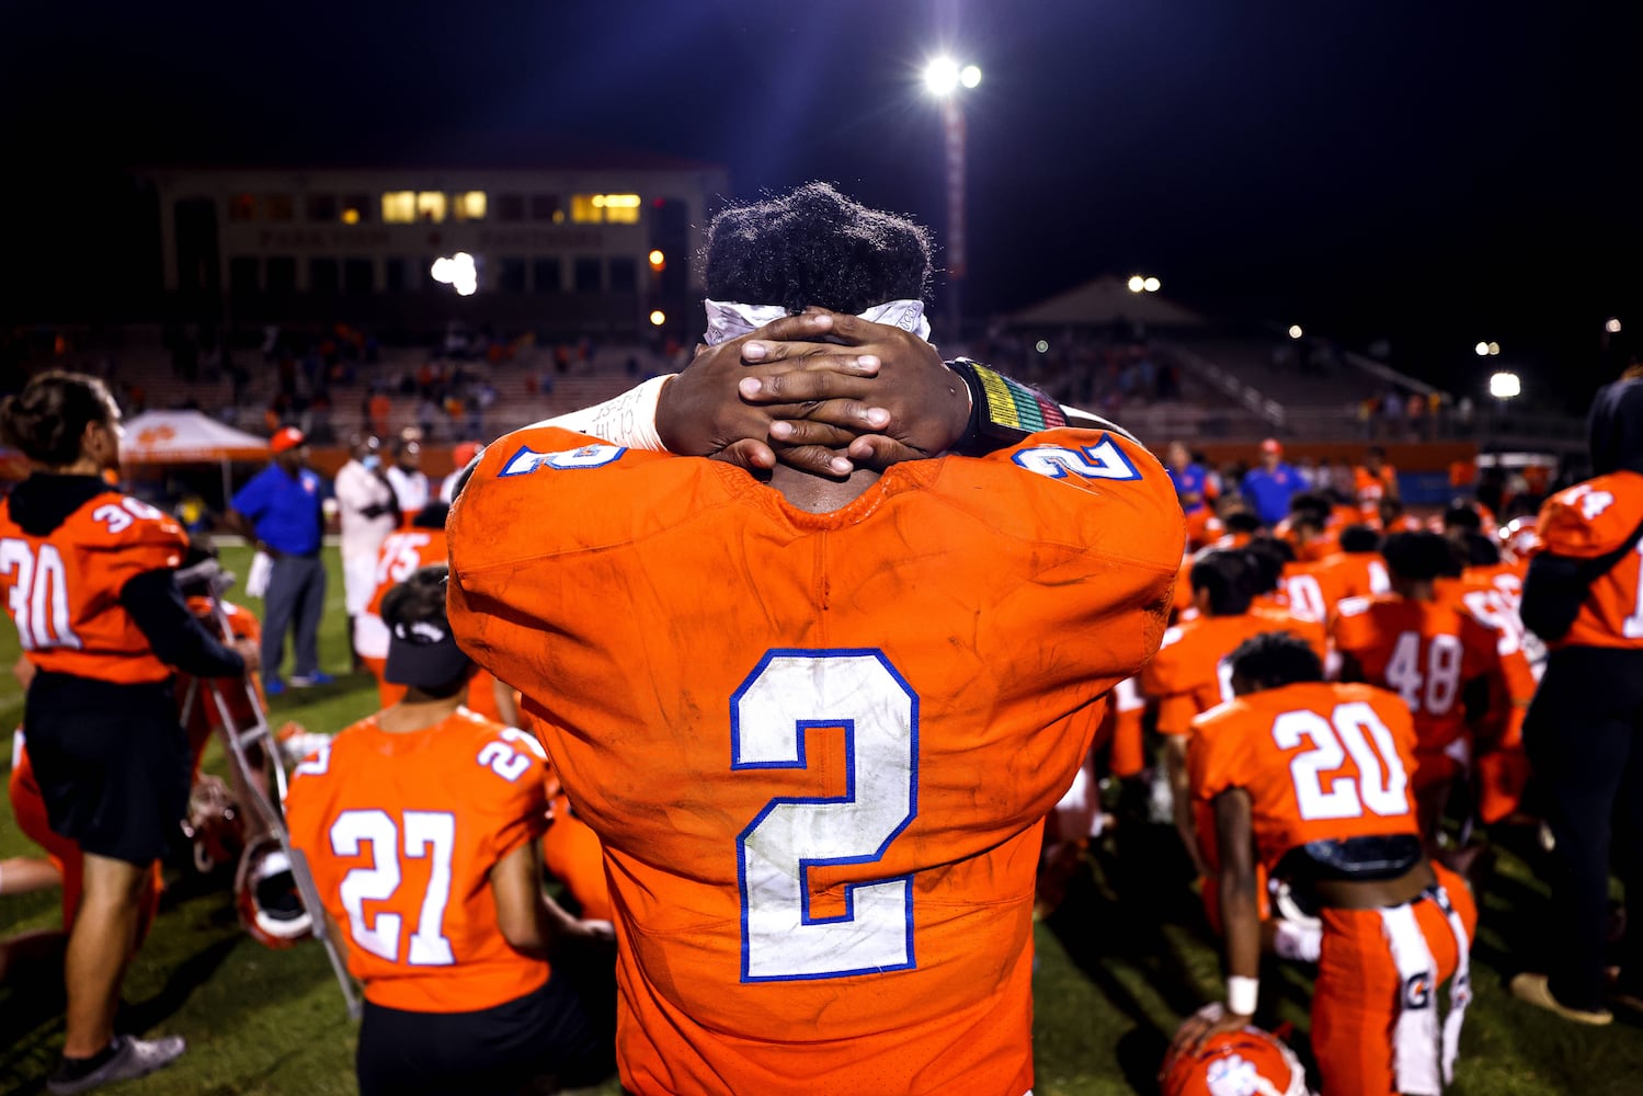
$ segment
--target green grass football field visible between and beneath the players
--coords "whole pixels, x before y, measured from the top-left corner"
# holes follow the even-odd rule
[[[243,550],[227,550],[245,572]],[[273,720],[334,731],[373,708],[375,690],[347,675],[342,583],[332,587],[320,652],[335,685],[288,693]],[[261,605],[248,601],[260,611]],[[13,629],[0,626],[0,661],[16,657]],[[0,674],[0,720],[21,713],[21,695]],[[215,751],[209,767],[222,769]],[[1035,979],[1037,1084],[1040,1096],[1155,1091],[1153,1075],[1181,1017],[1219,996],[1216,953],[1186,891],[1173,835],[1122,828],[1094,850],[1066,902],[1038,925]],[[8,810],[0,810],[0,858],[30,854]],[[1533,963],[1546,902],[1528,853],[1500,848],[1482,896],[1472,953],[1477,999],[1467,1012],[1454,1093],[1643,1093],[1643,1025],[1622,1014],[1608,1029],[1581,1029],[1513,1001],[1505,979]],[[0,933],[58,923],[56,894],[0,897]],[[1521,956],[1521,958],[1520,958]],[[62,1040],[61,988],[36,976],[0,988],[0,1093],[44,1091]],[[1308,978],[1286,966],[1263,983],[1280,1019],[1298,1025],[1305,1053]],[[1272,991],[1278,992],[1273,994]],[[353,1030],[322,950],[304,943],[269,951],[235,920],[222,881],[179,876],[125,983],[123,1027],[179,1034],[189,1053],[173,1068],[113,1091],[150,1094],[352,1093]],[[601,1093],[614,1094],[608,1084]]]

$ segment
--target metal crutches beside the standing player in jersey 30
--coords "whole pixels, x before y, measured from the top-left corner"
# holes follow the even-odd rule
[[[222,565],[210,559],[187,569],[187,572],[179,572],[179,582],[207,583],[207,588],[210,590],[212,616],[217,619],[217,629],[222,633],[223,642],[233,642],[233,628],[228,624],[228,613],[222,606],[222,595],[233,582],[233,577],[227,575],[222,570]],[[337,950],[337,942],[332,940],[327,932],[325,907],[319,899],[319,887],[314,886],[314,874],[309,871],[307,859],[302,853],[291,846],[291,835],[286,830],[286,766],[279,756],[279,743],[274,741],[273,731],[268,726],[268,713],[263,710],[263,700],[248,677],[240,680],[240,688],[245,690],[246,707],[251,711],[253,720],[251,726],[240,728],[238,721],[233,718],[233,710],[228,707],[228,698],[223,695],[222,682],[212,677],[196,677],[189,682],[189,690],[182,702],[184,720],[187,720],[194,703],[199,702],[202,684],[217,708],[222,736],[228,746],[228,756],[235,769],[240,772],[245,785],[251,792],[251,807],[261,817],[266,830],[276,841],[279,841],[279,848],[291,864],[291,877],[297,886],[297,897],[302,902],[302,909],[307,910],[314,938],[325,948],[325,958],[330,960],[330,968],[337,974],[337,984],[342,988],[342,999],[348,1007],[348,1017],[358,1020],[361,1015],[360,997],[358,992],[355,992],[353,979],[348,976],[348,966],[343,961],[342,953]],[[273,769],[278,802],[268,797],[266,781],[258,777],[256,769],[251,766],[248,749],[258,743],[263,744],[263,753],[268,756],[268,764]]]

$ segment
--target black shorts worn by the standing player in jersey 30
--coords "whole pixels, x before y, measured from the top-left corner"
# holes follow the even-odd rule
[[[39,672],[23,703],[51,828],[82,851],[150,864],[189,808],[189,739],[169,680],[117,685]]]

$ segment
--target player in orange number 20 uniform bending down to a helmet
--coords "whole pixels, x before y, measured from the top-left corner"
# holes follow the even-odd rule
[[[1323,919],[1313,1053],[1329,1096],[1438,1093],[1470,999],[1477,923],[1454,873],[1431,864],[1410,794],[1415,726],[1370,685],[1323,680],[1301,641],[1263,634],[1231,656],[1236,700],[1193,721],[1188,772],[1221,879],[1227,1009],[1188,1045],[1250,1022],[1260,920],[1255,863],[1309,886]],[[1449,1014],[1438,988],[1454,976]]]

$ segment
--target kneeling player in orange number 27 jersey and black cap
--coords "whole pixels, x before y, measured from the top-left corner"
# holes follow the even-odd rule
[[[544,891],[545,761],[529,735],[463,705],[473,664],[445,621],[445,567],[383,600],[403,700],[296,769],[291,843],[365,984],[360,1091],[511,1093],[613,1068],[613,1035],[549,966],[605,946]]]

